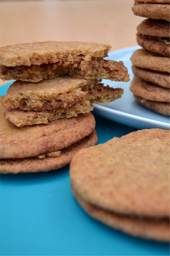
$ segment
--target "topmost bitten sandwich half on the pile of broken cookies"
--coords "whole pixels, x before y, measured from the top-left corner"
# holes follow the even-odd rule
[[[39,82],[68,74],[129,81],[122,61],[104,60],[111,46],[95,42],[34,42],[0,48],[0,78]]]

